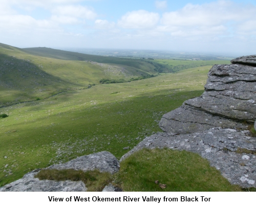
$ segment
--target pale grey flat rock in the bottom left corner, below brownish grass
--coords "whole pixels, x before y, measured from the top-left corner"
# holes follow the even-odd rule
[[[35,178],[38,172],[30,172],[24,175],[22,179],[11,182],[0,191],[16,191],[16,192],[84,192],[87,191],[86,186],[82,181],[54,181],[54,180],[39,180]]]

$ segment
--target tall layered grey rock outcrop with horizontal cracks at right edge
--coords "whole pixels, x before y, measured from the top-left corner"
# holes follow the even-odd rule
[[[212,127],[246,129],[256,118],[256,56],[214,65],[201,97],[189,99],[159,122],[165,132],[193,133]],[[254,58],[254,59],[253,59]],[[248,64],[251,65],[244,65]]]

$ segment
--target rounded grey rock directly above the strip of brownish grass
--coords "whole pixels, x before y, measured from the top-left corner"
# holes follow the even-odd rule
[[[118,159],[107,151],[77,157],[67,163],[52,165],[47,169],[74,169],[74,170],[95,170],[114,174],[119,171],[120,164]]]

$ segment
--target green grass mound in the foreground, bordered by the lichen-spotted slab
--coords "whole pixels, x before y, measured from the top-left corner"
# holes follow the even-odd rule
[[[115,180],[124,191],[242,191],[200,155],[171,149],[133,153],[120,163]]]

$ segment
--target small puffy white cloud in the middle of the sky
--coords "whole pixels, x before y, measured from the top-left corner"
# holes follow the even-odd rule
[[[118,26],[126,29],[150,29],[158,24],[158,13],[138,10],[127,12],[118,20]]]

